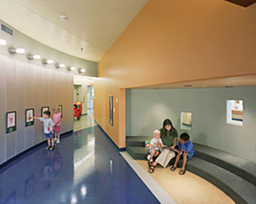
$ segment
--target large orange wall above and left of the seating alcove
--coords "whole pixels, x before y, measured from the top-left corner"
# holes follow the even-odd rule
[[[125,147],[120,88],[256,74],[255,24],[256,3],[242,8],[223,0],[149,0],[98,63],[96,122]]]

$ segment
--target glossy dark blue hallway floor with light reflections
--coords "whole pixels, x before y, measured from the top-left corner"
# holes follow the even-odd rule
[[[45,147],[0,170],[0,203],[160,203],[99,127]]]

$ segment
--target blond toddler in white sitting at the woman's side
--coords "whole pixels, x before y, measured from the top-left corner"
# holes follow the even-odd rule
[[[154,139],[151,139],[150,146],[149,146],[149,154],[148,160],[153,161],[154,156],[159,156],[160,154],[160,147],[163,147],[164,144],[162,139],[160,139],[160,131],[154,130]]]

